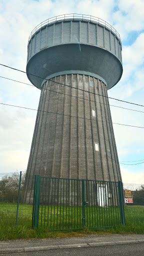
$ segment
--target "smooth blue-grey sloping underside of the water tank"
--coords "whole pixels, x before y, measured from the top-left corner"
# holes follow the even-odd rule
[[[79,73],[100,79],[110,89],[119,81],[122,65],[108,50],[87,44],[69,43],[49,47],[33,55],[27,63],[26,72],[31,83],[39,88],[45,81],[44,78]]]

